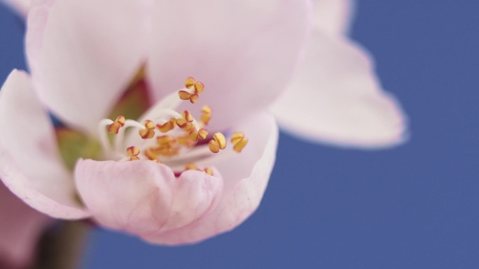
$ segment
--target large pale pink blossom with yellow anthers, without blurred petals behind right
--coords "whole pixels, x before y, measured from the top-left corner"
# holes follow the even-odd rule
[[[31,75],[13,71],[0,92],[1,180],[46,215],[149,242],[234,228],[268,184],[266,108],[302,51],[307,3],[34,2]]]

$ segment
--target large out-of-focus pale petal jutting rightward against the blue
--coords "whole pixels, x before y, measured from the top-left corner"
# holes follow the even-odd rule
[[[287,131],[323,143],[387,147],[408,137],[401,105],[382,91],[368,52],[320,31],[272,111]]]

